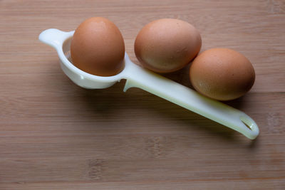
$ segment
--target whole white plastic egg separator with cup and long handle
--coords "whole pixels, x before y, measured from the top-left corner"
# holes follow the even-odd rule
[[[141,88],[232,128],[249,139],[255,139],[259,134],[257,123],[244,112],[222,102],[204,97],[195,90],[136,65],[130,60],[127,53],[125,53],[125,68],[118,75],[102,77],[88,74],[76,68],[70,60],[73,33],[74,31],[63,32],[51,28],[43,31],[39,36],[39,40],[56,49],[63,72],[77,85],[89,89],[108,88],[121,79],[126,79],[124,91],[132,87]]]

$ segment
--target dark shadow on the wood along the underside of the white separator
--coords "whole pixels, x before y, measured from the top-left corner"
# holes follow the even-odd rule
[[[175,121],[177,130],[187,132],[198,130],[198,133],[200,131],[202,135],[215,136],[231,142],[240,140],[241,135],[234,130],[143,90],[130,88],[127,93],[123,93],[123,85],[124,83],[117,83],[113,87],[98,90],[82,88],[78,90],[78,96],[81,97],[81,102],[87,110],[92,110],[96,115],[108,120],[122,117],[120,110],[123,109],[128,111],[145,109],[144,112],[149,112],[150,115],[155,113],[155,115],[161,115],[160,119]]]

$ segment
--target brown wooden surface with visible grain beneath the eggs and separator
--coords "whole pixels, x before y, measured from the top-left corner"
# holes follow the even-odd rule
[[[63,74],[47,28],[113,21],[133,51],[155,19],[192,23],[202,51],[233,48],[256,83],[227,102],[250,115],[252,141],[125,81],[86,90]],[[0,189],[285,189],[285,2],[0,1]],[[188,68],[165,75],[190,87]]]

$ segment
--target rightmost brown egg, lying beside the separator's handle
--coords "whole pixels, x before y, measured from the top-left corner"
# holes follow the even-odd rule
[[[252,63],[241,53],[227,48],[213,48],[201,53],[190,67],[193,87],[216,100],[233,100],[254,85]]]

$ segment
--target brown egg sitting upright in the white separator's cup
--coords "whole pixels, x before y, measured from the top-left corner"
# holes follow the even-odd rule
[[[93,17],[83,21],[71,41],[73,65],[93,75],[111,76],[124,68],[125,43],[115,24]]]

